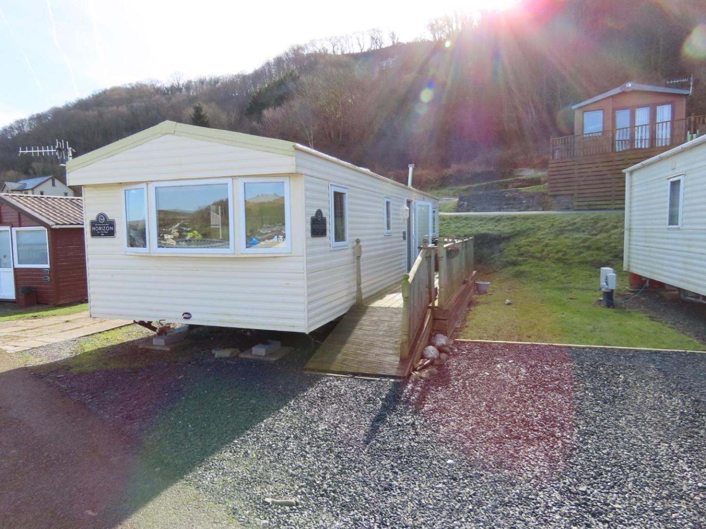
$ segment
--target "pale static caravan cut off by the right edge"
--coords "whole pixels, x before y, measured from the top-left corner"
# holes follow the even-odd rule
[[[706,136],[624,172],[623,268],[706,296]]]

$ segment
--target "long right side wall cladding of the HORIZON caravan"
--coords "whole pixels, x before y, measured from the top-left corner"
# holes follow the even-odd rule
[[[321,327],[344,314],[355,303],[355,259],[353,245],[361,240],[361,276],[363,296],[402,281],[407,272],[407,229],[403,217],[406,200],[436,200],[406,186],[369,176],[355,169],[297,150],[297,172],[304,174],[306,201],[306,297],[309,330]],[[348,189],[347,248],[331,249],[331,212],[329,185]],[[384,234],[384,201],[391,197],[393,231]],[[326,217],[327,236],[311,237],[309,219],[321,209]],[[407,233],[409,237],[409,233]]]

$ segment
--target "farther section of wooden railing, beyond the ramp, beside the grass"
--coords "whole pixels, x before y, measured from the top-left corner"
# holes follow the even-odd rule
[[[438,307],[446,308],[473,273],[473,238],[440,238]]]

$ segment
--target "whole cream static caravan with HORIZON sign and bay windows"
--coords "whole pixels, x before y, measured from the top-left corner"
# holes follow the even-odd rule
[[[83,186],[94,317],[310,332],[355,303],[357,238],[370,296],[438,230],[431,195],[292,142],[172,121],[66,171]]]

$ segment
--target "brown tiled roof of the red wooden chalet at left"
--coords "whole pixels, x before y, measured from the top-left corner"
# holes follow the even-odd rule
[[[0,200],[47,226],[83,226],[83,198],[0,193]]]

